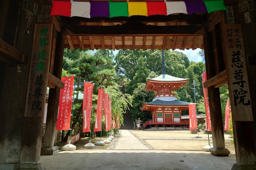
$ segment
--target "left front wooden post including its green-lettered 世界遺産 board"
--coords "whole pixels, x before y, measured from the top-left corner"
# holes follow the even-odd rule
[[[21,145],[20,168],[40,166],[44,105],[52,55],[52,24],[36,24],[25,107],[25,121]]]

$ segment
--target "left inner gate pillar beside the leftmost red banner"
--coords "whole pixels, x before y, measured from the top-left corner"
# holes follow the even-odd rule
[[[54,21],[54,20],[53,20]],[[55,20],[55,23],[58,22]],[[55,27],[56,28],[56,27]],[[58,24],[58,28],[60,26]],[[54,31],[54,42],[56,42],[56,51],[54,60],[51,61],[50,67],[50,77],[53,75],[58,78],[57,81],[60,81],[62,75],[62,63],[63,63],[63,50],[64,50],[64,35],[62,32],[58,32],[57,29]],[[53,52],[54,53],[54,52]],[[54,67],[54,68],[52,68]],[[53,77],[54,78],[54,77]],[[41,155],[53,155],[58,153],[58,147],[54,146],[55,138],[56,138],[56,125],[57,125],[57,117],[58,117],[58,103],[59,103],[59,95],[60,95],[60,88],[63,88],[62,82],[60,84],[55,84],[49,90],[49,98],[48,98],[48,108],[47,108],[47,118],[46,118],[46,129],[44,134],[44,142],[43,147],[41,149]]]

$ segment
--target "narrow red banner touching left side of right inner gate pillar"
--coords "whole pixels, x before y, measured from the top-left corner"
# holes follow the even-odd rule
[[[202,74],[202,81],[203,84],[207,80],[206,77],[206,71]],[[207,88],[203,87],[203,94],[204,94],[204,104],[206,109],[206,129],[208,129],[210,132],[212,131],[212,121],[210,120],[210,107],[208,102],[208,95],[207,95]]]

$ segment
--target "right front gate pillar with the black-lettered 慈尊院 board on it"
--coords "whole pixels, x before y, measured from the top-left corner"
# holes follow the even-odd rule
[[[226,74],[236,151],[236,164],[232,170],[256,169],[255,113],[253,113],[255,100],[251,98],[255,96],[255,84],[250,86],[248,79],[248,74],[253,73],[247,72],[247,53],[244,50],[243,33],[248,34],[242,30],[241,24],[223,25]]]

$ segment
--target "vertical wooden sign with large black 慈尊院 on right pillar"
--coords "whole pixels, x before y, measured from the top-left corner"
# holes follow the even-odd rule
[[[225,24],[223,40],[233,120],[253,121],[241,25]]]

